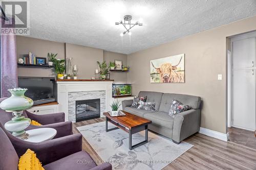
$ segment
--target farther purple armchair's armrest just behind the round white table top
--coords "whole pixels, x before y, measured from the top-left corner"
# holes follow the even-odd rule
[[[30,125],[26,130],[37,129],[37,128],[53,128],[53,129],[55,129],[57,131],[57,134],[54,136],[54,139],[73,134],[71,121],[60,122],[60,123],[49,124],[49,125],[42,125],[42,126]]]

